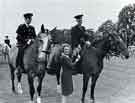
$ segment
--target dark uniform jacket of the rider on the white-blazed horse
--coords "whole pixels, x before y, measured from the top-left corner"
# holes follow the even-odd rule
[[[18,45],[25,45],[28,39],[34,39],[36,37],[35,28],[31,25],[29,27],[26,24],[21,24],[16,30]]]

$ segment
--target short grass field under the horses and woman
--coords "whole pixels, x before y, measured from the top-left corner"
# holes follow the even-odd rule
[[[113,58],[110,61],[105,61],[104,64],[104,70],[95,89],[95,103],[135,103],[135,59]],[[68,99],[68,103],[81,103],[82,76],[74,76],[73,80],[74,93]],[[22,86],[23,95],[12,93],[9,68],[1,59],[0,103],[27,103],[29,89],[26,75],[23,75]],[[86,95],[86,103],[90,103],[89,93],[90,88]],[[56,78],[46,75],[43,82],[42,103],[60,103],[60,99],[60,94],[56,92]]]

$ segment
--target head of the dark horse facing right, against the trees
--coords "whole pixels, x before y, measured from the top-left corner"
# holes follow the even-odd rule
[[[128,48],[120,36],[116,34],[109,34],[108,40],[108,45],[113,53],[117,55],[122,54],[126,59],[129,58]]]

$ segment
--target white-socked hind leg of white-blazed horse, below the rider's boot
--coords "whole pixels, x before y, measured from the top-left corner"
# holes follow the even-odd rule
[[[21,78],[22,78],[22,73],[21,73],[20,69],[18,68],[18,72],[17,72],[17,80],[18,80],[17,88],[18,88],[18,93],[19,94],[23,93],[22,85],[21,85]]]

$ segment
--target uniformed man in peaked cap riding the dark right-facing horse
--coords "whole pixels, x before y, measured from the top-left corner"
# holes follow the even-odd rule
[[[88,41],[89,36],[86,33],[85,27],[82,26],[82,17],[83,15],[76,15],[74,18],[76,19],[77,24],[71,29],[71,41],[72,41],[72,49],[73,49],[73,58],[80,58],[80,51],[84,44],[90,46],[90,42]]]

